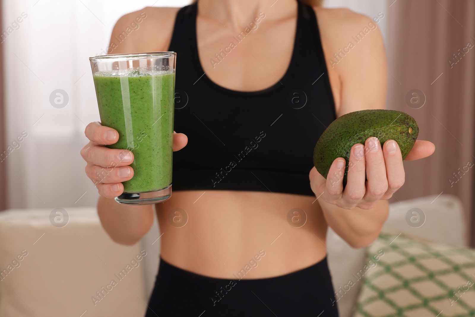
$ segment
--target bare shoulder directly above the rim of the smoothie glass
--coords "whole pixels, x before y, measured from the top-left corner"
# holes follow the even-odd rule
[[[115,23],[108,53],[168,50],[178,10],[145,7],[123,15]]]

